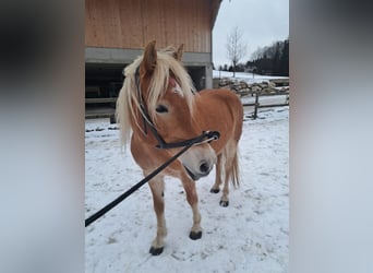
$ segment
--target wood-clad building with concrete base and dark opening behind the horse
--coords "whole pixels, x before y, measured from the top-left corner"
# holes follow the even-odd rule
[[[115,105],[123,83],[123,68],[142,55],[146,44],[154,39],[157,48],[184,44],[182,60],[195,87],[212,87],[212,33],[220,2],[86,0],[86,117],[110,114],[107,106]],[[97,111],[98,106],[106,108]],[[96,112],[89,114],[92,107]]]

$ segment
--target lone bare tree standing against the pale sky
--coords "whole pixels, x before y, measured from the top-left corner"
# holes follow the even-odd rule
[[[232,62],[234,78],[237,64],[246,54],[246,45],[242,40],[242,32],[238,26],[233,27],[231,33],[228,34],[226,48],[227,57]]]

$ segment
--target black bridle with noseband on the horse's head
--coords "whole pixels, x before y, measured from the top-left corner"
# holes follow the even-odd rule
[[[184,147],[189,145],[200,145],[203,143],[210,143],[214,140],[218,140],[220,136],[220,133],[218,131],[203,131],[202,134],[198,136],[195,136],[193,139],[189,140],[183,140],[183,141],[178,141],[178,142],[172,142],[172,143],[167,143],[161,135],[158,133],[157,128],[153,123],[151,116],[145,107],[144,104],[144,98],[141,93],[141,87],[140,87],[140,67],[136,68],[135,71],[135,84],[136,84],[136,92],[137,92],[137,97],[139,97],[139,104],[141,108],[141,115],[143,117],[143,123],[144,123],[144,133],[147,134],[147,127],[151,129],[151,132],[157,140],[158,144],[156,147],[158,149],[175,149],[175,147]]]

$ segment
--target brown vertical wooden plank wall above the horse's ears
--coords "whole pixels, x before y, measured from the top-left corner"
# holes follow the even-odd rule
[[[189,52],[212,51],[220,0],[86,0],[85,46],[143,49],[184,44]]]

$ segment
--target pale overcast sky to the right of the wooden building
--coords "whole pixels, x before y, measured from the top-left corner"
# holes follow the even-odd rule
[[[258,47],[289,37],[289,0],[222,0],[213,29],[215,67],[230,64],[226,44],[234,26],[246,44],[246,55],[240,62],[246,62]]]

